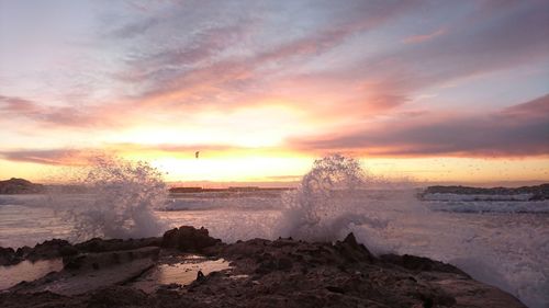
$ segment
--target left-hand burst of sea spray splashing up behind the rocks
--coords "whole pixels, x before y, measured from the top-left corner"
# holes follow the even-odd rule
[[[86,195],[57,197],[63,215],[74,221],[74,238],[142,238],[158,236],[167,226],[154,209],[166,202],[163,174],[146,162],[109,156],[92,158],[79,179]]]

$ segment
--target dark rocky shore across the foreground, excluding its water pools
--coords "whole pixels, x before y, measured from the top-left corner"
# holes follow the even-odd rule
[[[152,292],[136,287],[150,271],[189,254],[229,266],[199,271],[190,282],[156,283]],[[180,227],[161,238],[0,249],[4,265],[56,258],[63,270],[1,292],[0,307],[525,307],[452,265],[373,255],[352,233],[335,243],[289,238],[226,244],[206,229]]]

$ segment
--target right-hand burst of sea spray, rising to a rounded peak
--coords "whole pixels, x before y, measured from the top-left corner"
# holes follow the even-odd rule
[[[366,189],[374,182],[359,161],[332,155],[314,162],[295,191],[285,193],[278,233],[304,240],[333,241],[352,226],[386,227],[386,221],[369,215]]]

